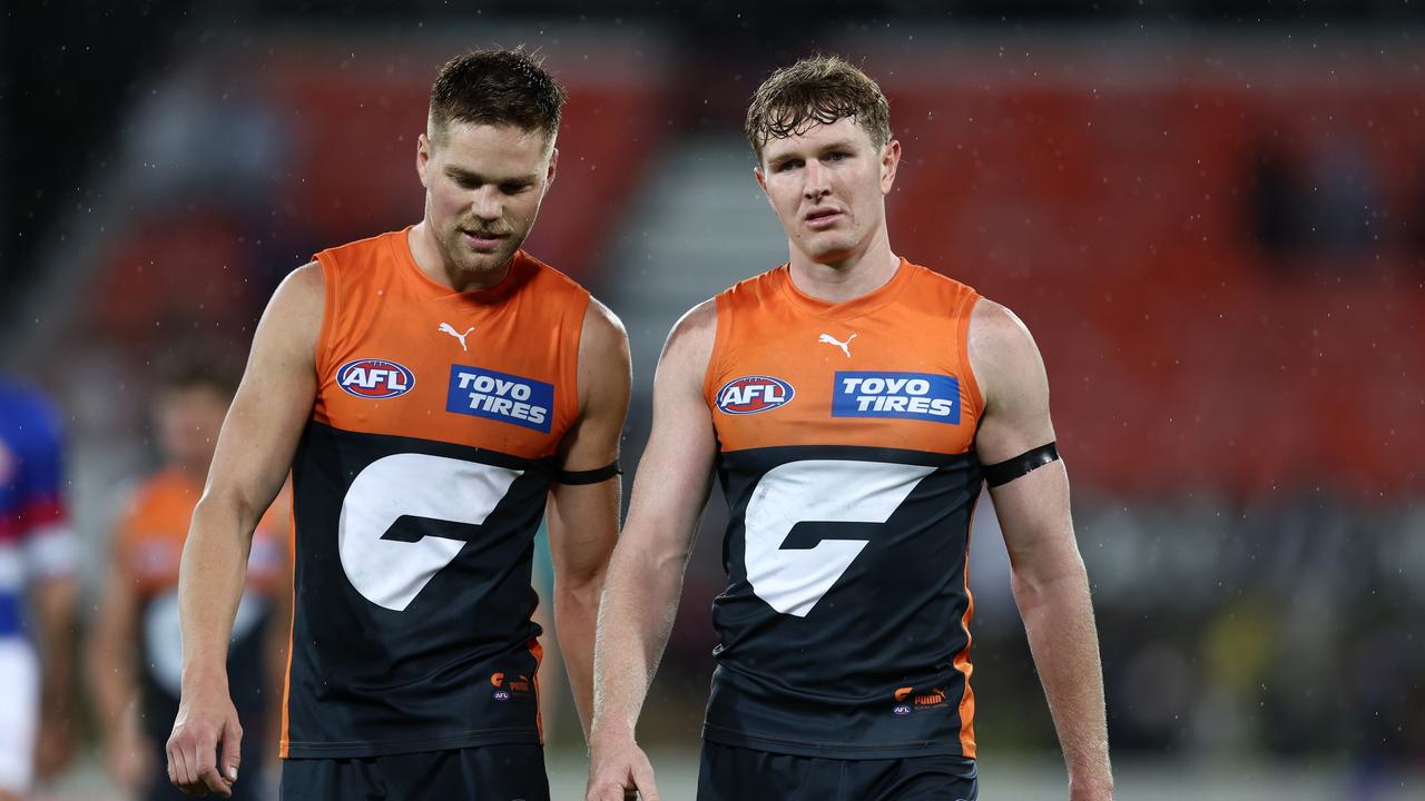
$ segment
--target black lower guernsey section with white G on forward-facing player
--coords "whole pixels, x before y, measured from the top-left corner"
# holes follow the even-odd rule
[[[834,758],[959,754],[973,455],[727,452],[710,740]]]

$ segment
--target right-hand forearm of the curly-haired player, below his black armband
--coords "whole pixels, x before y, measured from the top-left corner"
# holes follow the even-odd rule
[[[1103,667],[1089,580],[1077,554],[1039,576],[1016,570],[1015,599],[1045,687],[1073,798],[1112,798]]]

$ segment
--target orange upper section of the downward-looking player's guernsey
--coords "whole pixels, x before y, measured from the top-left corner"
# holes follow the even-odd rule
[[[312,418],[509,456],[556,453],[579,416],[589,292],[524,251],[500,285],[455,292],[420,271],[408,235],[316,254],[326,309]]]

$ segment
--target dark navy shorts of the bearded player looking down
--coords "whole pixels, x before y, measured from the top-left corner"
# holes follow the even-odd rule
[[[550,801],[544,750],[479,745],[282,761],[282,801]]]

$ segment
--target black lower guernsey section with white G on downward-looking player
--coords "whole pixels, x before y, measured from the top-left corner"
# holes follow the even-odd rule
[[[294,463],[291,757],[539,743],[553,460],[311,422]]]

